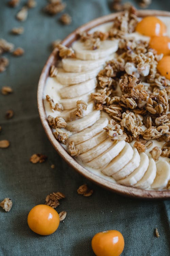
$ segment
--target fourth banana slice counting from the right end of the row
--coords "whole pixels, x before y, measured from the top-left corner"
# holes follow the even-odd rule
[[[115,180],[120,180],[131,174],[140,164],[140,155],[136,148],[133,148],[133,158],[120,171],[112,175]]]

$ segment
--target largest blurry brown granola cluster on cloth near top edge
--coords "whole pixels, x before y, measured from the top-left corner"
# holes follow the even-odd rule
[[[62,12],[66,8],[66,3],[62,3],[61,0],[53,1],[46,5],[44,11],[49,15],[55,15]]]

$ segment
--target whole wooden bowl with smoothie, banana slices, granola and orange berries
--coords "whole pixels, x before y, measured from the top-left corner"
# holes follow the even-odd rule
[[[97,184],[133,197],[170,197],[170,13],[120,12],[58,44],[38,84],[56,151]]]

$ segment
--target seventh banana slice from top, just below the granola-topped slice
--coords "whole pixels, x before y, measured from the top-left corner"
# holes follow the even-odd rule
[[[96,123],[100,118],[100,110],[94,110],[88,115],[67,123],[66,129],[71,132],[79,132]]]

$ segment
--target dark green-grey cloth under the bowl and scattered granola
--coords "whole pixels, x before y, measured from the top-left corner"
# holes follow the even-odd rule
[[[92,256],[92,237],[108,229],[122,232],[122,256],[169,256],[169,201],[126,198],[86,180],[55,152],[37,111],[38,79],[50,54],[51,42],[64,39],[89,20],[111,13],[109,1],[65,0],[65,12],[73,18],[69,26],[58,22],[61,14],[51,17],[42,11],[46,0],[37,0],[25,22],[18,22],[15,15],[26,1],[16,8],[7,7],[6,2],[0,2],[0,37],[22,47],[25,54],[5,54],[10,65],[0,73],[0,88],[11,86],[14,90],[11,95],[0,95],[0,140],[11,142],[9,148],[0,149],[0,201],[5,197],[13,201],[10,212],[0,208],[0,256]],[[170,11],[169,0],[154,0],[150,9]],[[18,26],[23,26],[25,32],[10,34]],[[10,109],[15,115],[6,120],[5,112]],[[43,153],[48,160],[33,165],[29,159],[34,153]],[[51,169],[51,164],[55,169]],[[87,198],[77,194],[84,183],[94,189],[94,194]],[[67,216],[51,236],[39,236],[29,229],[27,215],[53,191],[66,195],[56,210],[66,211]],[[156,227],[159,238],[154,235]]]

